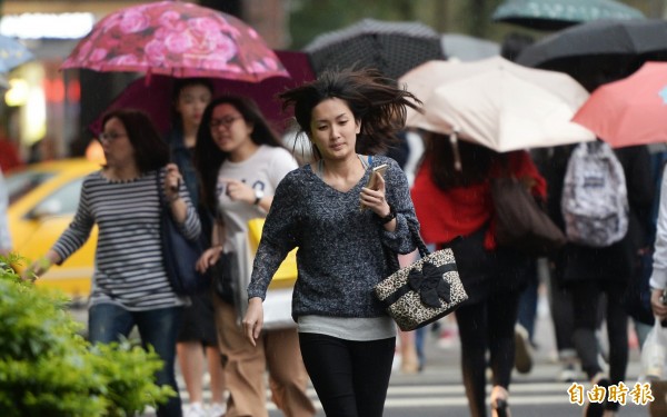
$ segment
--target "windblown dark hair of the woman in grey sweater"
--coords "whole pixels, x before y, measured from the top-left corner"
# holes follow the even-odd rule
[[[397,142],[396,132],[406,123],[406,106],[419,111],[421,105],[411,92],[376,69],[325,71],[317,80],[278,95],[282,109],[293,107],[299,133],[310,137],[312,109],[323,100],[337,98],[350,108],[361,123],[357,139],[360,153],[380,152]],[[312,147],[313,155],[321,155]]]

